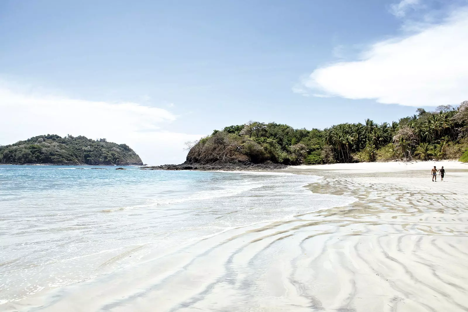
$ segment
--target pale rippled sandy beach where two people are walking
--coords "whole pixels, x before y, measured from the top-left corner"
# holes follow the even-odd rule
[[[344,207],[228,229],[4,311],[468,311],[468,165],[297,166]],[[440,177],[438,176],[438,181]]]

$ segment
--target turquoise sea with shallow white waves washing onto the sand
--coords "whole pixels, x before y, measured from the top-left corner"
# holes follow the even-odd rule
[[[0,304],[350,201],[302,187],[312,175],[99,168],[0,166]]]

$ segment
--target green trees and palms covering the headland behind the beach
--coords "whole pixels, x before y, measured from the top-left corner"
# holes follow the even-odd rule
[[[214,130],[187,142],[188,163],[253,162],[284,164],[350,163],[391,160],[456,159],[468,149],[468,101],[439,106],[377,125],[339,124],[294,129],[277,123],[249,122]],[[467,152],[463,157],[468,157]],[[462,159],[465,159],[463,158]]]

